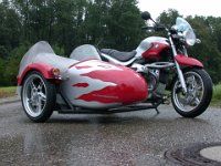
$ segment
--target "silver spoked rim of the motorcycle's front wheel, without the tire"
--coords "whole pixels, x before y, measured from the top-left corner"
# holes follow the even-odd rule
[[[204,84],[202,77],[196,72],[187,72],[183,74],[187,93],[183,94],[179,81],[175,83],[172,96],[173,103],[182,112],[191,112],[199,106],[204,94]]]

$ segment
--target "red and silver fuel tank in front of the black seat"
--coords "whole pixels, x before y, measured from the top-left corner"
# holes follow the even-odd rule
[[[137,56],[143,56],[146,60],[159,60],[160,53],[170,49],[166,38],[150,37],[141,41],[137,48]]]

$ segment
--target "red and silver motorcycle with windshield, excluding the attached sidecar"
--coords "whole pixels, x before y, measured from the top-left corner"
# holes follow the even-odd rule
[[[141,18],[154,21],[149,12],[144,12]],[[212,81],[203,64],[189,58],[187,46],[200,43],[200,40],[182,18],[177,18],[176,24],[170,29],[155,21],[154,23],[154,27],[143,29],[167,31],[167,39],[147,38],[131,52],[102,49],[102,59],[140,73],[148,84],[149,95],[146,102],[165,103],[168,100],[166,90],[169,90],[172,105],[180,115],[199,116],[211,102]]]

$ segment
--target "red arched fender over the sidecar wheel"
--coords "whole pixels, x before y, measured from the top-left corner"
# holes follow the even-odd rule
[[[53,68],[49,64],[44,63],[32,63],[28,65],[21,75],[18,75],[18,85],[22,85],[22,82],[25,77],[25,75],[31,71],[38,71],[40,72],[46,80],[54,79],[54,75],[52,74]]]

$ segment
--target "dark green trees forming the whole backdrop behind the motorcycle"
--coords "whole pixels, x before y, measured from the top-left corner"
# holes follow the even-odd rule
[[[170,27],[178,15],[170,9],[157,20]],[[204,63],[214,83],[220,82],[221,18],[187,19],[202,40],[189,49],[190,54]],[[38,41],[49,41],[56,54],[66,56],[86,43],[131,51],[144,38],[152,35],[141,31],[144,24],[136,0],[2,0],[0,86],[15,85],[19,62]]]

